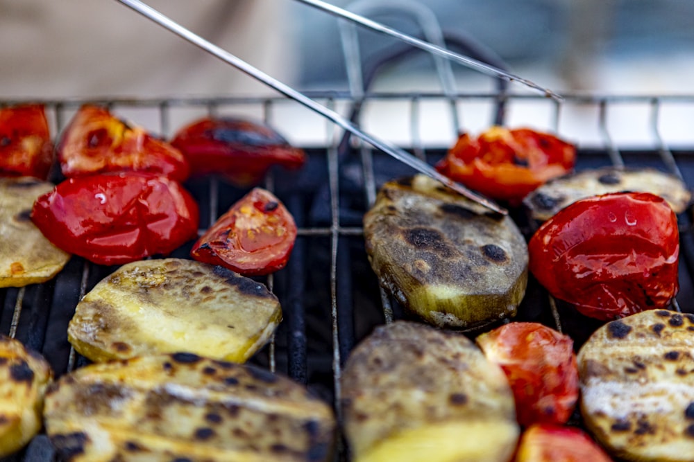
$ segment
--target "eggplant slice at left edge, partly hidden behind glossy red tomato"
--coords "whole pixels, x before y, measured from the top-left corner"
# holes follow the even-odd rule
[[[53,184],[30,177],[0,179],[0,287],[43,283],[70,259],[31,222],[31,208]]]

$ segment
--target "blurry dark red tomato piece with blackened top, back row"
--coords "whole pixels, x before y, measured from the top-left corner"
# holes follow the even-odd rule
[[[260,183],[273,165],[296,169],[306,161],[271,127],[239,118],[203,118],[180,129],[171,144],[194,175],[223,175],[242,188]]]

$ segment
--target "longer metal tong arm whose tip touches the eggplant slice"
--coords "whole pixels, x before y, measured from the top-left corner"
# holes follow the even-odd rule
[[[391,143],[389,143],[387,141],[378,139],[375,136],[372,136],[366,132],[362,132],[362,130],[359,130],[359,128],[357,128],[353,123],[348,121],[343,116],[337,114],[337,112],[334,112],[331,109],[328,109],[327,107],[325,107],[319,103],[316,103],[316,101],[305,96],[300,91],[296,91],[295,89],[289,87],[288,85],[285,85],[284,83],[280,82],[276,78],[273,78],[270,75],[267,75],[266,73],[264,73],[263,71],[260,71],[260,69],[257,69],[254,66],[251,66],[251,64],[248,64],[247,62],[240,59],[239,57],[236,57],[235,55],[232,55],[228,51],[225,51],[222,48],[219,48],[219,46],[214,45],[211,42],[208,42],[207,40],[203,39],[203,37],[196,35],[192,31],[190,31],[187,28],[178,24],[176,21],[163,15],[158,10],[151,8],[151,6],[149,6],[149,5],[146,5],[146,3],[142,3],[142,1],[139,1],[139,0],[116,0],[116,1],[123,3],[125,6],[128,6],[129,8],[132,8],[133,10],[139,12],[139,14],[143,15],[144,17],[151,19],[151,21],[154,21],[155,23],[166,28],[167,30],[170,30],[171,32],[175,33],[176,35],[183,37],[188,42],[190,42],[190,43],[202,48],[203,50],[207,51],[208,53],[218,57],[220,60],[226,62],[227,64],[231,64],[232,66],[239,69],[240,71],[243,71],[243,72],[247,73],[248,75],[251,75],[251,77],[253,77],[257,80],[260,80],[260,82],[263,82],[265,85],[268,85],[269,87],[272,87],[273,89],[276,89],[281,94],[284,94],[285,96],[295,100],[296,102],[301,103],[305,107],[312,109],[314,112],[321,114],[325,118],[328,118],[330,121],[332,121],[332,122],[336,123],[337,125],[339,125],[340,127],[344,128],[344,130],[348,130],[349,132],[355,134],[356,136],[359,136],[359,138],[363,139],[364,141],[366,141],[366,143],[369,143],[374,148],[382,150],[383,152],[385,152],[385,153],[391,155],[392,157],[398,159],[399,161],[405,163],[407,166],[414,168],[418,172],[421,172],[421,173],[428,175],[434,179],[437,179],[438,181],[441,181],[441,183],[448,186],[448,188],[451,188],[452,190],[454,190],[455,192],[457,192],[461,195],[464,195],[468,199],[471,199],[474,202],[477,202],[478,204],[481,204],[482,206],[489,208],[492,211],[495,211],[496,213],[501,213],[502,215],[507,215],[508,211],[505,208],[498,206],[497,204],[495,204],[491,200],[486,199],[486,197],[482,197],[481,195],[478,195],[477,193],[473,193],[473,191],[469,190],[468,188],[465,188],[461,184],[456,183],[455,181],[446,177],[445,175],[441,175],[441,173],[437,172],[437,170],[435,170],[432,166],[430,166],[425,161],[422,161],[421,159],[414,157],[412,154],[409,154],[409,152],[402,150],[402,149],[398,148],[395,145],[392,145]]]

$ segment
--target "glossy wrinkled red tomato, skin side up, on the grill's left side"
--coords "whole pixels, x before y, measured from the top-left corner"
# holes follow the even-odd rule
[[[198,230],[198,206],[178,182],[135,172],[67,179],[31,218],[56,247],[99,265],[169,254]]]

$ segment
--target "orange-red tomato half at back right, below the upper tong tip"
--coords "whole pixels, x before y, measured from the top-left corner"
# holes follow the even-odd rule
[[[493,199],[518,204],[549,179],[576,163],[574,145],[527,128],[491,127],[477,139],[460,134],[439,172]]]

